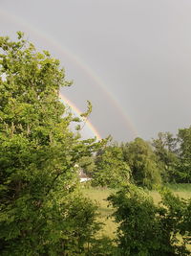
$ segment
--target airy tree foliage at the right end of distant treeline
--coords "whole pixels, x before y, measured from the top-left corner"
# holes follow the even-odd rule
[[[163,182],[191,182],[191,128],[179,129],[178,135],[159,132],[153,140]]]

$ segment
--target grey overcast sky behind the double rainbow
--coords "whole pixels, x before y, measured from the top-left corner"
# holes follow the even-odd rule
[[[62,93],[118,141],[190,126],[190,28],[190,0],[0,0],[1,35],[59,58]]]

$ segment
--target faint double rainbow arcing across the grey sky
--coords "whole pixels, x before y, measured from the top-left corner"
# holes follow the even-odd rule
[[[18,23],[20,27],[24,27],[27,31],[30,30],[33,35],[37,35],[37,37],[43,40],[46,40],[46,43],[49,43],[50,45],[52,45],[61,56],[70,58],[78,67],[80,67],[86,73],[86,75],[88,75],[93,81],[96,81],[96,85],[98,85],[101,88],[101,90],[108,96],[108,99],[112,102],[112,105],[114,105],[118,109],[119,113],[126,121],[126,125],[131,130],[132,134],[134,136],[138,136],[137,129],[135,128],[133,122],[130,121],[132,120],[132,118],[130,118],[130,116],[127,115],[126,111],[119,104],[116,96],[107,88],[108,86],[105,84],[105,82],[102,81],[99,77],[97,77],[94,71],[81,58],[78,58],[69,49],[61,45],[59,42],[54,40],[49,35],[46,35],[44,32],[42,33],[41,31],[34,28],[31,24],[27,23],[26,20],[23,20],[20,17],[15,16],[14,14],[6,12],[5,10],[2,10],[2,9],[0,10],[0,14],[5,18],[9,18],[9,21],[11,20],[13,23]],[[62,95],[61,97],[63,98],[64,96]],[[71,103],[65,97],[64,99],[65,101],[64,100],[63,101],[65,103],[66,102]],[[74,109],[74,112],[76,113],[80,112],[80,110],[73,103],[69,105]],[[96,131],[96,128],[94,128],[94,126],[90,123],[90,121],[88,121],[88,126],[89,128],[92,129],[96,137],[98,137],[97,136],[98,132]]]

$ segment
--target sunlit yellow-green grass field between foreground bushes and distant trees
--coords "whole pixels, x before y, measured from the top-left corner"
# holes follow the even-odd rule
[[[180,198],[191,198],[191,184],[175,184],[167,186]],[[112,189],[101,189],[101,188],[83,188],[83,193],[88,198],[91,198],[98,205],[99,218],[98,220],[103,222],[105,225],[101,231],[101,235],[108,236],[110,238],[115,238],[115,231],[117,229],[117,224],[109,218],[114,209],[108,206],[108,201],[106,200],[108,196],[115,193],[116,190]],[[155,203],[159,203],[160,196],[157,191],[151,191],[149,194],[154,198]]]

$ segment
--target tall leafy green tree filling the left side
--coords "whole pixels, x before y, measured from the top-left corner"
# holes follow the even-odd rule
[[[76,119],[59,101],[71,83],[57,59],[22,33],[0,37],[0,53],[0,254],[78,255],[96,213],[75,192],[74,166],[100,145],[71,131]]]

